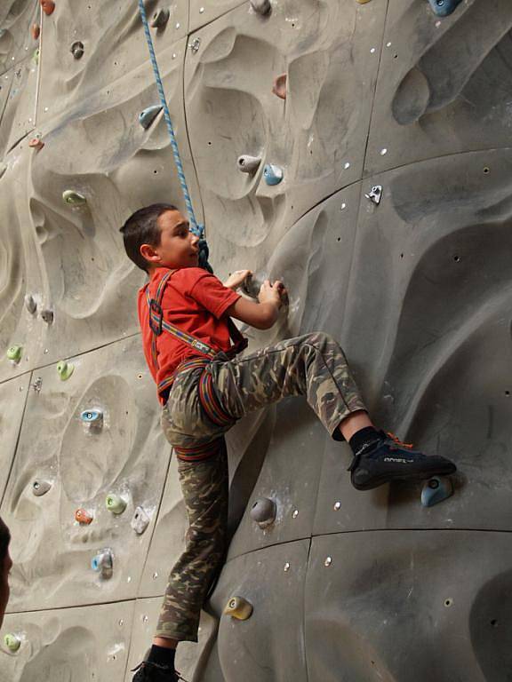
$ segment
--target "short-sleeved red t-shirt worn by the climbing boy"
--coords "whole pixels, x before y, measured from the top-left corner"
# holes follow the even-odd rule
[[[180,362],[189,358],[202,357],[202,354],[195,348],[173,337],[164,329],[162,334],[156,337],[159,367],[156,369],[153,366],[151,357],[153,333],[149,328],[146,289],[149,287],[150,298],[155,297],[158,284],[168,270],[167,267],[156,268],[150,281],[139,289],[137,301],[142,347],[156,385],[165,377],[169,377]],[[215,275],[206,272],[203,268],[182,267],[171,275],[165,286],[162,298],[164,320],[211,345],[213,349],[226,352],[231,347],[231,341],[228,324],[222,316],[238,298],[240,294],[225,287]],[[159,395],[158,400],[164,404],[163,396]]]

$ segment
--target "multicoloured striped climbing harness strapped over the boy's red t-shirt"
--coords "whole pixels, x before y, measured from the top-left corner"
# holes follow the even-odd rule
[[[209,362],[213,360],[213,358],[215,358],[219,354],[219,352],[212,348],[211,345],[205,344],[204,341],[201,341],[192,334],[188,334],[188,332],[183,331],[183,329],[179,329],[171,322],[164,320],[164,311],[162,309],[162,299],[164,298],[164,290],[172,274],[175,272],[176,272],[175,270],[169,270],[169,272],[164,274],[164,277],[162,277],[162,279],[158,283],[158,287],[156,288],[155,298],[151,298],[149,295],[149,284],[146,287],[146,301],[148,303],[149,312],[149,327],[152,331],[151,359],[153,361],[153,367],[155,369],[158,369],[156,337],[159,337],[163,331],[167,331],[169,334],[172,335],[172,337],[177,338],[182,343],[189,345],[191,348],[194,349],[194,351],[196,351],[196,353],[199,353],[203,357],[182,362],[178,366],[178,368],[174,370],[170,377],[165,377],[161,382],[159,382],[157,387],[158,393],[164,393],[164,391],[168,391],[171,389],[171,386],[174,383],[174,379],[179,371],[182,371],[183,369],[191,369],[192,367],[202,366],[205,367]],[[230,318],[228,318],[228,330],[229,336],[231,337],[231,340],[234,343],[233,348],[230,351],[228,351],[228,353],[226,353],[226,355],[229,358],[234,357],[236,353],[241,353],[247,347],[248,341],[246,338],[242,336],[240,331],[236,328],[235,323]],[[204,377],[209,377],[205,378],[204,381],[202,380],[200,387],[200,396],[201,393],[203,393],[204,405],[207,406],[205,407],[205,409],[207,411],[209,411],[210,409],[212,410],[212,416],[215,417],[212,419],[212,421],[215,422],[217,420],[216,423],[225,424],[226,423],[225,418],[223,416],[216,415],[216,413],[219,411],[218,408],[216,406],[213,406],[212,408],[210,407],[210,404],[213,401],[211,385],[212,377],[210,375],[204,375]]]

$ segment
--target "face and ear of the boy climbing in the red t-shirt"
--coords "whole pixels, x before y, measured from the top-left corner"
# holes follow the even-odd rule
[[[143,244],[140,253],[154,267],[197,267],[199,237],[188,229],[188,220],[179,210],[166,210],[157,220],[160,244]]]

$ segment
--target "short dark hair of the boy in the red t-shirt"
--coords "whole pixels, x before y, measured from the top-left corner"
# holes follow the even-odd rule
[[[145,272],[148,272],[148,261],[140,254],[140,247],[142,244],[159,245],[160,229],[156,221],[166,210],[180,209],[172,203],[152,203],[151,206],[132,213],[120,229],[123,233],[126,255]]]

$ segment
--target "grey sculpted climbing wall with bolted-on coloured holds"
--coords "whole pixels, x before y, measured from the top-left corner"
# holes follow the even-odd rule
[[[118,229],[185,204],[137,2],[43,5],[0,7],[0,682],[124,682],[186,515]],[[378,424],[459,467],[426,506],[352,488],[304,400],[236,424],[228,560],[178,669],[510,680],[510,0],[146,11],[216,274],[290,292],[250,347],[331,333]]]

